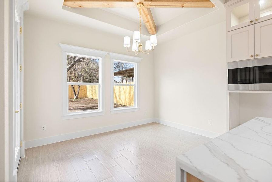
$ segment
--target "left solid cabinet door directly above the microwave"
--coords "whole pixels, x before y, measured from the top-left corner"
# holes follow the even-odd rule
[[[254,25],[227,32],[227,62],[254,59]]]

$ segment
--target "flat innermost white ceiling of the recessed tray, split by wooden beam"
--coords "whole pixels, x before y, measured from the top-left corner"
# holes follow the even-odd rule
[[[139,12],[137,8],[100,8],[104,11],[121,16],[123,18],[139,22]],[[194,9],[194,10],[193,10]],[[197,11],[197,8],[151,8],[156,26],[160,26],[169,20],[176,18],[188,11]],[[142,21],[142,24],[143,21]]]

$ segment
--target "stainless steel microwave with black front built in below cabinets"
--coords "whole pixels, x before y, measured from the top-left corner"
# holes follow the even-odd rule
[[[272,58],[229,62],[228,90],[272,90]]]

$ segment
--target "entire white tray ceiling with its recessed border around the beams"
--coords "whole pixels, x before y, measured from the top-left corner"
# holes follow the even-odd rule
[[[80,25],[120,36],[132,36],[139,29],[139,12],[136,8],[69,8],[62,6],[63,0],[28,0],[29,10],[25,14],[46,19]],[[222,1],[210,0],[214,8],[151,8],[157,26],[157,39],[165,42],[175,37],[203,29],[225,20]],[[206,17],[205,22],[201,19]],[[209,19],[207,19],[209,17]],[[142,26],[144,39],[149,39]]]

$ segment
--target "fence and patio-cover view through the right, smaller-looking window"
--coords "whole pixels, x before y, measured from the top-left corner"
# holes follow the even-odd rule
[[[135,106],[135,64],[113,62],[113,107]]]

